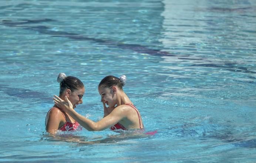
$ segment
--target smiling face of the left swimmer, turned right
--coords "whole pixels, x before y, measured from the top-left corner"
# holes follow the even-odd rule
[[[70,91],[68,100],[70,100],[73,108],[75,108],[78,104],[82,104],[82,97],[84,96],[84,92],[84,87],[79,90]]]

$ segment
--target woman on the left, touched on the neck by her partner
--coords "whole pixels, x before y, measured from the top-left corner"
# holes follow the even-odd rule
[[[67,98],[72,105],[72,110],[74,110],[75,105],[82,104],[85,89],[81,80],[77,77],[66,76],[64,73],[60,73],[57,81],[60,83],[60,94],[58,98],[61,100]],[[73,131],[79,126],[75,119],[56,105],[48,111],[45,124],[46,131],[51,134],[55,134],[58,130]]]

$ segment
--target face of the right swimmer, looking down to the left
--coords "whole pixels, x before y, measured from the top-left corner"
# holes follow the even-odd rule
[[[98,88],[99,94],[101,96],[101,102],[107,104],[109,107],[115,106],[115,93],[113,88],[104,88],[99,87]]]

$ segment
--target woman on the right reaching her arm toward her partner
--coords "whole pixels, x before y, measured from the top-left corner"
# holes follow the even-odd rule
[[[143,129],[142,119],[137,108],[124,93],[123,86],[126,82],[126,76],[121,77],[106,76],[98,85],[98,91],[101,95],[101,102],[104,107],[104,118],[94,122],[78,114],[73,109],[73,103],[65,96],[64,99],[54,96],[55,104],[64,112],[67,112],[81,126],[89,131],[100,131],[107,128],[112,130],[122,129]],[[109,107],[106,107],[107,104]]]

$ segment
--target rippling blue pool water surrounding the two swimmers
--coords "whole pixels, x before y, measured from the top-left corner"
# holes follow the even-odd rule
[[[1,162],[256,162],[255,0],[0,0]],[[45,132],[58,73],[124,91],[154,136]]]

